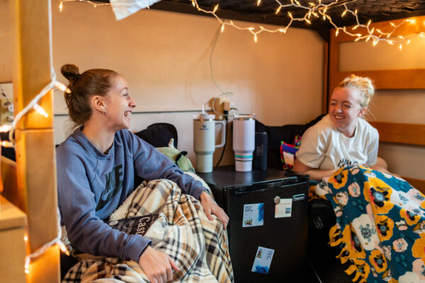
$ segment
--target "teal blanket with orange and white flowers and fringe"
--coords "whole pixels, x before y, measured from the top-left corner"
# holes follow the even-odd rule
[[[331,202],[330,245],[353,282],[425,282],[425,196],[405,180],[348,166],[315,187]]]

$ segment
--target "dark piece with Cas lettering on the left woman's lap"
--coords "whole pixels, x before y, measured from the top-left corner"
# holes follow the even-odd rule
[[[117,229],[118,231],[128,233],[128,234],[137,234],[140,236],[145,235],[147,229],[158,219],[158,214],[148,214],[143,216],[137,216],[132,218],[125,218],[119,220],[108,221],[108,225],[112,229]]]

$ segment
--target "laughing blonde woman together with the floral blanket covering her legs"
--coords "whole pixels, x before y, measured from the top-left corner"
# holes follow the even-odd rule
[[[294,171],[322,180],[314,191],[336,214],[329,244],[353,282],[422,282],[425,196],[382,166],[378,131],[362,118],[373,94],[367,78],[339,83],[329,114],[303,135]]]

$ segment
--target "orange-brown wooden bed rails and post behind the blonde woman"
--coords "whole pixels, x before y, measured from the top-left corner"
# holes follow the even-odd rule
[[[397,28],[393,35],[409,35],[425,31],[425,25],[422,24],[425,23],[425,16],[419,16],[414,19],[416,20],[416,24],[402,25]],[[402,21],[403,19],[391,22],[397,25]],[[388,25],[390,25],[390,21],[371,23],[370,28],[385,30],[385,27]],[[347,27],[347,30],[351,30],[351,28],[352,27]],[[361,33],[362,30],[358,28],[356,32],[357,31]],[[339,44],[341,42],[353,42],[355,39],[355,37],[351,37],[345,33],[339,33],[339,35],[336,36],[335,29],[331,30],[331,39],[329,43],[329,91],[326,89],[324,91],[324,112],[326,112],[331,91],[340,81],[346,78],[346,76],[353,73],[359,76],[370,77],[370,79],[373,79],[377,89],[425,89],[425,69],[339,71]],[[425,125],[394,122],[371,122],[370,124],[378,129],[380,141],[425,146]],[[421,180],[406,177],[404,177],[404,179],[418,190],[425,193],[425,179]]]

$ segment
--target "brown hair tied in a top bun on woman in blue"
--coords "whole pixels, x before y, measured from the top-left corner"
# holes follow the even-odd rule
[[[64,93],[69,117],[77,125],[84,123],[91,117],[91,96],[106,96],[111,90],[113,78],[119,76],[116,71],[108,69],[89,69],[79,74],[74,64],[64,64],[60,69],[62,75],[69,81],[71,93]]]

